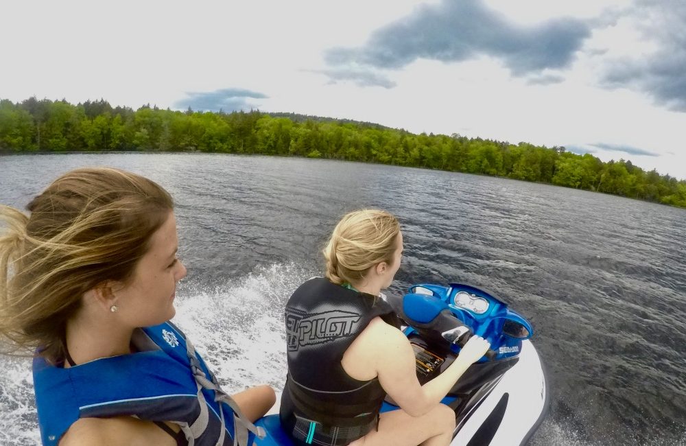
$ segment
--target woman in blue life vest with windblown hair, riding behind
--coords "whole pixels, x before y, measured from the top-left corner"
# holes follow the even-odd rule
[[[32,347],[43,445],[247,445],[268,386],[226,395],[173,324],[173,202],[118,169],[0,207],[0,341]]]

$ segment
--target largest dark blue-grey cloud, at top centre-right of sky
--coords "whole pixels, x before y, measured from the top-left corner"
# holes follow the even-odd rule
[[[578,19],[517,25],[482,0],[443,0],[380,28],[363,47],[329,49],[324,58],[331,66],[399,69],[418,58],[460,62],[485,54],[523,76],[569,66],[590,34],[591,26]]]

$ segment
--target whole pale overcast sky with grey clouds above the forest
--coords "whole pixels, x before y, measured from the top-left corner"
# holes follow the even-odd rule
[[[292,112],[686,179],[683,0],[21,1],[0,98]]]

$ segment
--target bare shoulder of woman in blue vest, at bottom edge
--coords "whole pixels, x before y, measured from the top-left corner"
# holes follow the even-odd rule
[[[169,434],[150,421],[142,421],[131,416],[117,416],[79,419],[69,427],[59,446],[175,444]]]

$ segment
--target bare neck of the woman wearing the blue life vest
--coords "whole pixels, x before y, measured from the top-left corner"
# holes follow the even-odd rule
[[[133,330],[112,323],[77,317],[67,321],[67,350],[75,364],[126,355],[131,353],[132,334]]]

